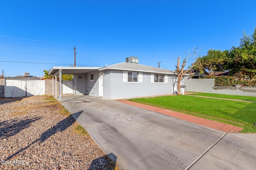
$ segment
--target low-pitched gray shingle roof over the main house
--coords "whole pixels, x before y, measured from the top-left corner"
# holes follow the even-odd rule
[[[168,74],[176,74],[174,71],[171,70],[166,70],[162,68],[157,68],[157,67],[152,67],[152,66],[147,66],[143,64],[136,64],[136,63],[118,63],[118,64],[113,64],[107,67],[103,67],[102,69],[125,69],[125,70],[138,70],[138,71],[145,71],[145,72],[164,72]]]

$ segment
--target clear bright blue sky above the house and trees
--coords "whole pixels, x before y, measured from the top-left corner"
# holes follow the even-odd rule
[[[74,64],[74,46],[77,66],[135,56],[175,70],[177,57],[193,47],[198,57],[238,46],[243,30],[254,32],[255,8],[255,0],[2,0],[0,71],[43,76],[44,69]]]

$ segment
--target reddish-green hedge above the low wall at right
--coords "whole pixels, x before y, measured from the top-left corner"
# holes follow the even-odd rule
[[[256,87],[256,80],[239,80],[231,76],[206,76],[204,78],[214,78],[214,86],[236,86],[236,84],[241,84],[245,87]]]

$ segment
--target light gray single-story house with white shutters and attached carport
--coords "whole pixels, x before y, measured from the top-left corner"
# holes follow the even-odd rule
[[[138,58],[134,61],[129,58],[126,61],[131,63],[105,67],[54,66],[49,75],[75,74],[73,80],[76,94],[102,96],[111,100],[177,93],[175,72],[138,64]]]

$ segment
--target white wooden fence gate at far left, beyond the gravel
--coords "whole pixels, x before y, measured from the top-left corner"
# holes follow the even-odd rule
[[[45,82],[42,80],[5,80],[6,98],[41,96],[45,94]]]

